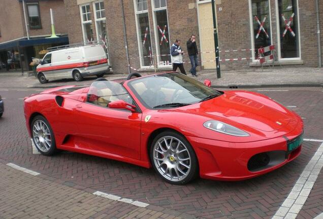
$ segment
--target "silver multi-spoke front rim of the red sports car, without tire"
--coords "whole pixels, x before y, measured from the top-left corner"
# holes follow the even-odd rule
[[[158,172],[171,181],[181,181],[190,172],[191,159],[185,144],[176,137],[164,136],[153,147]]]

